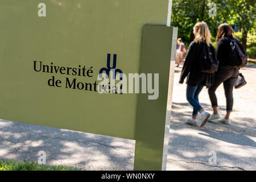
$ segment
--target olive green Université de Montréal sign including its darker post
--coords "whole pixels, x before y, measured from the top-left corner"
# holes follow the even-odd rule
[[[134,139],[135,170],[165,169],[170,15],[168,0],[1,1],[0,118]],[[157,99],[99,93],[98,75],[110,69],[158,73]]]

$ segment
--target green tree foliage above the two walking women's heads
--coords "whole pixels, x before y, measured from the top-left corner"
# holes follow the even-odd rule
[[[229,23],[246,32],[255,32],[255,0],[173,0],[172,26],[179,28],[179,37],[188,45],[193,40],[193,26],[204,21],[212,36],[216,36],[221,23]],[[217,15],[210,16],[209,3],[217,5]],[[246,39],[246,38],[245,38]]]

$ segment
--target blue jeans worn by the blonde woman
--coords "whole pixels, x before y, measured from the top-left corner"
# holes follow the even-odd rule
[[[201,105],[199,104],[199,93],[203,89],[203,85],[197,85],[197,86],[189,86],[187,85],[187,100],[189,104],[193,106],[193,116],[197,116],[197,113],[203,109]]]

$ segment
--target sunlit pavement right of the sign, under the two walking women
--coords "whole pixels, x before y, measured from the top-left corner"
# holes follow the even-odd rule
[[[256,65],[241,69],[247,85],[234,89],[232,125],[214,122],[205,127],[185,125],[192,107],[185,98],[186,85],[178,84],[181,68],[175,68],[168,170],[255,170],[256,169]],[[220,115],[225,116],[223,85],[217,89]],[[212,113],[207,89],[199,96],[204,109]],[[216,154],[213,164],[212,154]],[[209,155],[210,154],[210,155]],[[210,161],[209,161],[210,159]]]

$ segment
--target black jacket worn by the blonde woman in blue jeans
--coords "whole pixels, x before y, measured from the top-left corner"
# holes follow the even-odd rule
[[[203,73],[199,68],[199,57],[205,46],[207,46],[205,42],[196,43],[195,41],[189,45],[188,53],[180,75],[180,84],[182,84],[185,77],[187,77],[187,84],[189,86],[197,86],[199,84],[207,87],[212,86],[214,74]],[[215,51],[211,44],[209,49],[215,56]]]

